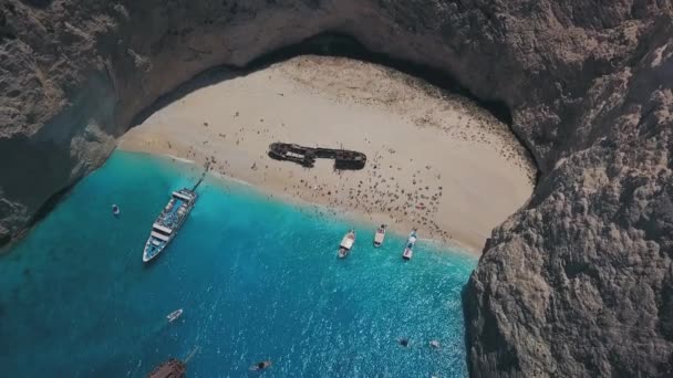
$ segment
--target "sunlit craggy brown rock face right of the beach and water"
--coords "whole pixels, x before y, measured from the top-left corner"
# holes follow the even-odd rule
[[[540,128],[559,138],[543,178],[464,294],[474,376],[673,375],[673,23],[660,20]]]

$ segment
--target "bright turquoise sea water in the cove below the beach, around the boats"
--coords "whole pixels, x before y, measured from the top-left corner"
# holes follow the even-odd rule
[[[361,224],[338,260],[351,224],[210,178],[143,265],[167,196],[199,174],[117,151],[0,258],[2,376],[142,377],[197,346],[188,377],[257,376],[262,359],[266,377],[466,376],[460,291],[477,261],[460,251],[421,239],[403,263],[403,237],[374,249]]]

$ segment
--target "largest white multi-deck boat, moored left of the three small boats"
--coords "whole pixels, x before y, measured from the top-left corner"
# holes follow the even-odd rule
[[[187,219],[196,198],[197,195],[194,189],[185,188],[173,192],[170,200],[152,224],[152,232],[149,232],[143,252],[144,262],[151,261],[166,249]]]

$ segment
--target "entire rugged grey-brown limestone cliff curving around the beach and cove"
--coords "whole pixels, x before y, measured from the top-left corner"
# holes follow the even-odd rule
[[[158,96],[323,31],[511,109],[541,179],[465,292],[476,377],[673,367],[670,0],[0,0],[0,242]]]

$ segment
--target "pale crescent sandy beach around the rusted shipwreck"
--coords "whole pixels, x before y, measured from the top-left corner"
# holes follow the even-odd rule
[[[267,156],[273,141],[367,155],[358,171]],[[170,155],[273,196],[325,206],[400,233],[479,253],[525,203],[535,168],[507,126],[470,101],[405,74],[340,57],[300,56],[196,90],[118,140]]]

